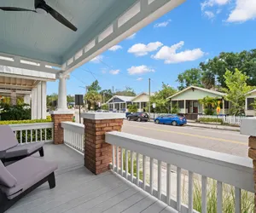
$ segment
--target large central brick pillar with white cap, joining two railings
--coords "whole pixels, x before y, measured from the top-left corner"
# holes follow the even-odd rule
[[[96,116],[94,114],[83,114],[84,166],[98,175],[109,170],[109,164],[112,162],[112,145],[105,142],[105,133],[120,131],[124,115],[113,112],[102,112]],[[99,114],[103,114],[102,118]]]

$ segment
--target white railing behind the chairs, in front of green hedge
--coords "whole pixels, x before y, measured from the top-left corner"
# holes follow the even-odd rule
[[[10,128],[15,132],[20,144],[31,142],[52,142],[53,127],[52,122],[35,124],[10,124]]]

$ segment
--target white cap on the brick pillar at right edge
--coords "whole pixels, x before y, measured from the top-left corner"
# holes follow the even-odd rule
[[[256,118],[241,118],[241,135],[256,136]]]

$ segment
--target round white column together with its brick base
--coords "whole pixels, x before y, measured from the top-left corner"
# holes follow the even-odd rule
[[[59,76],[59,94],[58,94],[58,108],[51,113],[51,119],[54,123],[54,143],[63,143],[64,133],[61,127],[61,122],[72,121],[74,112],[67,109],[67,76]]]

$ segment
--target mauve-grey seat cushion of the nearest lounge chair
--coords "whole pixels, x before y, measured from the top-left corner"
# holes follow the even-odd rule
[[[2,187],[0,185],[0,189],[6,193],[8,199],[14,199],[38,181],[43,180],[44,177],[49,176],[57,168],[57,164],[45,161],[44,159],[23,158],[6,167],[9,173],[17,180],[15,187]]]

